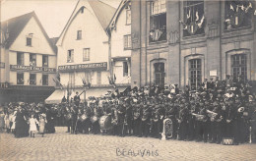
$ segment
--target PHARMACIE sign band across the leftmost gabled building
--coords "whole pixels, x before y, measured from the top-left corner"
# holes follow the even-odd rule
[[[10,65],[10,70],[23,70],[23,71],[38,71],[38,72],[56,72],[54,68],[47,67],[33,67],[33,66],[19,66],[19,65]]]

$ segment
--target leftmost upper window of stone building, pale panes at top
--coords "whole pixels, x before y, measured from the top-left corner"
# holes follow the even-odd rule
[[[151,3],[150,42],[166,40],[166,6],[165,0]]]

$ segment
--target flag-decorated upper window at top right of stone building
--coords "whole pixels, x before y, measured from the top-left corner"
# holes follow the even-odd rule
[[[252,3],[250,1],[225,1],[224,29],[251,26]]]

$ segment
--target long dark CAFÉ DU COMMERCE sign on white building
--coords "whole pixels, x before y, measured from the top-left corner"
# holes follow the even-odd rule
[[[107,63],[91,63],[91,64],[76,64],[76,65],[67,65],[67,66],[59,66],[58,70],[60,72],[68,72],[68,71],[86,71],[86,70],[106,70]]]

